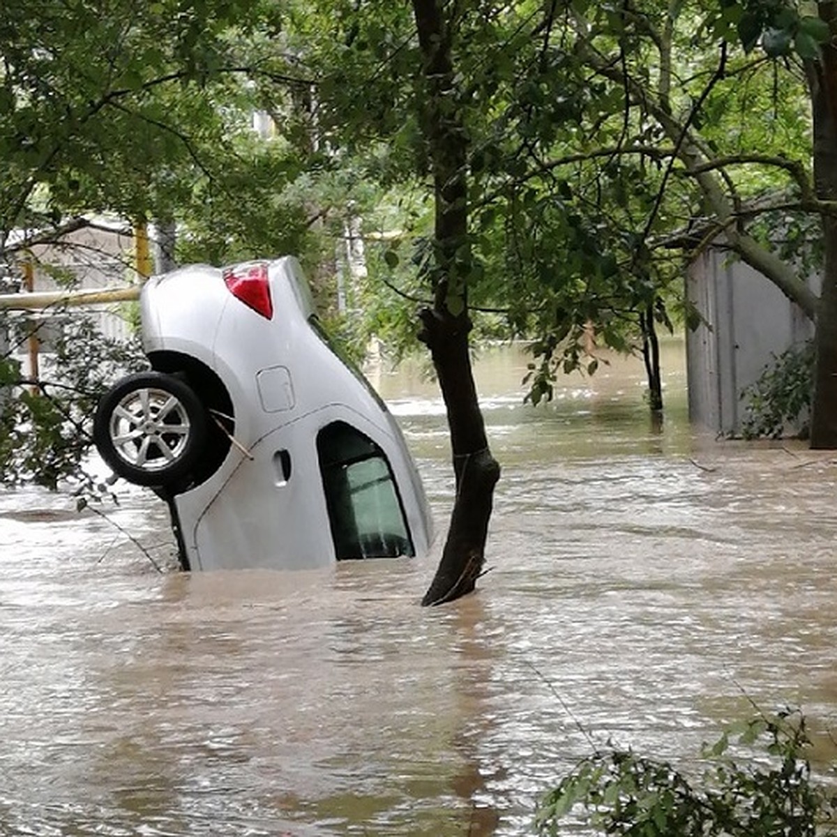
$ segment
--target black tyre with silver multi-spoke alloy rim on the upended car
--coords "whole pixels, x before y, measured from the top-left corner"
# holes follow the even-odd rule
[[[136,485],[172,485],[189,474],[203,452],[207,413],[179,378],[138,372],[100,400],[93,439],[116,475]]]

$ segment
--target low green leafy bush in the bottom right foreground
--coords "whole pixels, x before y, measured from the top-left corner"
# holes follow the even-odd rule
[[[731,741],[740,745],[734,754]],[[837,797],[812,775],[809,745],[804,717],[784,710],[730,727],[705,747],[700,781],[632,750],[597,752],[547,793],[537,827],[562,834],[581,819],[598,834],[625,837],[833,837]]]

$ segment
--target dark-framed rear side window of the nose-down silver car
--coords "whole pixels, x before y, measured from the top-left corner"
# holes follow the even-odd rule
[[[337,560],[414,555],[383,450],[345,422],[326,425],[316,444]]]

